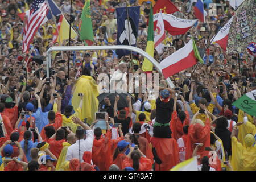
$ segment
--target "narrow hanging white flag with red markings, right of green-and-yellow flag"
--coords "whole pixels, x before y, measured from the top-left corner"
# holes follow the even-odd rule
[[[155,49],[158,51],[158,53],[163,52],[163,40],[166,38],[166,31],[164,30],[164,22],[163,22],[163,16],[162,11],[160,11],[160,16],[158,16],[156,29],[155,29],[155,36],[154,36],[154,43],[155,43]]]

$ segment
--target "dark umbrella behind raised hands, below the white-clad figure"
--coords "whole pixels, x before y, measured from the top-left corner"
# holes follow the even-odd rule
[[[117,108],[124,108],[124,107],[129,107],[129,103],[126,101],[126,96],[130,96],[131,97],[131,104],[134,104],[135,103],[135,100],[134,100],[134,97],[131,96],[131,94],[129,93],[102,93],[100,94],[97,98],[98,98],[98,101],[100,102],[101,105],[106,105],[105,101],[104,101],[104,98],[105,97],[108,97],[110,102],[111,102],[111,105],[114,107],[114,104],[115,104],[115,96],[116,95],[119,95],[120,99],[117,103]]]

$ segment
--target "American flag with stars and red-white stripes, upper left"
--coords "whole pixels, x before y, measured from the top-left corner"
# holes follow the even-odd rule
[[[35,0],[31,6],[30,14],[26,20],[26,26],[24,28],[23,36],[23,52],[27,52],[30,46],[30,43],[34,39],[38,28],[45,22],[49,7],[47,6],[47,0]]]

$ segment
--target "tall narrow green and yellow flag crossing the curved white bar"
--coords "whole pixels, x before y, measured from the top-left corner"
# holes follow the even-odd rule
[[[148,35],[147,35],[146,52],[151,57],[154,57],[154,49],[155,49],[155,44],[154,44],[154,23],[153,23],[153,9],[152,9],[152,3],[151,3],[149,23],[148,23]],[[152,72],[152,70],[153,70],[153,64],[148,59],[146,59],[146,58],[143,61],[142,70],[144,72]]]

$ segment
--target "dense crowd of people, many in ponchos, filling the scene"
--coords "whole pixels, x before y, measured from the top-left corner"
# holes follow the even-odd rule
[[[173,1],[188,19],[196,19],[195,2]],[[211,2],[218,3],[216,16],[208,15]],[[73,1],[71,16],[69,1],[55,3],[79,32],[84,1]],[[150,3],[90,1],[93,44],[116,45],[115,8],[140,6],[137,47],[145,50]],[[53,43],[57,30],[50,19],[39,28],[30,52],[23,53],[19,13],[31,5],[31,0],[0,1],[1,171],[164,171],[192,157],[202,171],[256,170],[256,118],[232,105],[256,89],[256,59],[248,52],[228,54],[210,43],[234,13],[229,1],[204,1],[206,22],[199,21],[185,35],[167,33],[163,52],[155,50],[160,63],[195,39],[204,64],[171,76],[175,88],[160,75],[157,98],[150,97],[150,90],[142,92],[140,80],[134,84],[138,93],[102,101],[97,97],[106,88],[98,89],[98,75],[106,74],[103,85],[109,84],[106,80],[127,81],[126,73],[143,73],[144,57],[119,57],[114,50],[73,51],[71,57],[68,51],[54,51],[47,78],[45,60],[35,58],[46,56],[52,46],[67,46],[68,40]],[[71,46],[84,44],[79,38],[71,40]],[[98,112],[104,118],[97,119]]]

